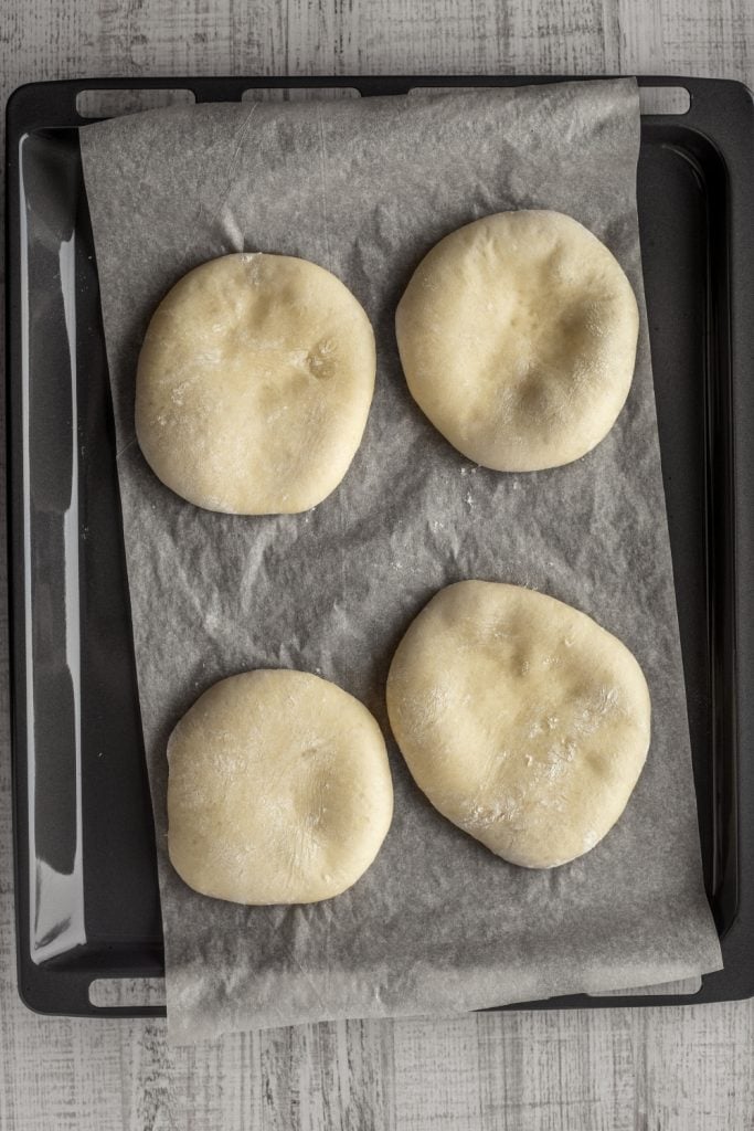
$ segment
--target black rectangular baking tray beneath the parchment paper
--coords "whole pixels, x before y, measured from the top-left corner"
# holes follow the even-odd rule
[[[7,107],[7,426],[18,987],[47,1013],[98,1008],[96,978],[163,973],[115,438],[77,128],[83,90],[517,86],[557,77],[81,79]],[[642,118],[639,216],[704,881],[725,969],[694,995],[514,1008],[669,1005],[754,995],[754,105],[683,87]],[[640,879],[640,878],[638,878]],[[657,908],[658,916],[662,908]]]

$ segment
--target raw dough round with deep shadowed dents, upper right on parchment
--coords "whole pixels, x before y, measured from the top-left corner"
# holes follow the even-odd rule
[[[570,464],[629,395],[639,311],[617,260],[554,211],[486,216],[441,240],[396,312],[411,396],[469,459]]]

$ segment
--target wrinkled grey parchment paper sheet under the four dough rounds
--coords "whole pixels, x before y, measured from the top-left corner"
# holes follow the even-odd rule
[[[328,1018],[444,1013],[651,985],[721,965],[703,893],[635,206],[633,80],[423,97],[155,111],[89,126],[81,150],[110,361],[141,715],[157,829],[171,1039]],[[448,232],[554,208],[617,256],[642,321],[627,405],[569,467],[465,460],[409,397],[393,311]],[[133,435],[135,370],[176,279],[231,251],[338,275],[378,336],[364,442],[301,516],[199,510]],[[374,713],[413,616],[462,578],[541,589],[625,641],[653,705],[647,767],[592,853],[532,872],[441,818],[392,741],[390,834],[349,891],[245,908],[199,896],[165,853],[165,744],[210,683],[322,674]]]

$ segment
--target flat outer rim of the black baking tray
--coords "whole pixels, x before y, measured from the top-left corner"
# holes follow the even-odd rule
[[[25,633],[19,628],[25,624],[24,610],[19,615],[19,593],[23,587],[19,585],[23,573],[24,556],[23,544],[19,545],[18,521],[20,515],[18,499],[18,483],[20,478],[18,469],[20,467],[19,442],[20,437],[16,428],[18,421],[15,413],[14,381],[18,375],[17,346],[19,327],[19,295],[16,293],[15,283],[18,277],[17,256],[17,216],[19,208],[19,195],[17,176],[17,154],[18,143],[25,135],[43,129],[68,128],[76,129],[79,126],[90,123],[95,119],[83,116],[76,109],[76,97],[86,89],[189,89],[194,94],[197,104],[203,102],[233,102],[237,101],[242,93],[253,88],[277,88],[277,89],[317,89],[333,87],[353,87],[362,96],[379,96],[407,93],[413,87],[484,87],[484,86],[532,86],[551,83],[573,83],[592,81],[609,78],[633,77],[639,86],[644,87],[685,87],[692,97],[692,106],[686,114],[642,114],[642,123],[658,126],[673,121],[685,121],[685,127],[703,135],[717,149],[728,174],[728,213],[730,216],[730,256],[733,266],[730,278],[736,275],[738,286],[730,287],[731,309],[731,379],[733,396],[736,404],[736,415],[733,421],[733,450],[730,458],[735,460],[735,532],[738,536],[739,547],[746,543],[754,553],[754,516],[748,516],[739,506],[745,491],[739,491],[739,478],[742,463],[745,463],[749,470],[748,482],[754,482],[754,455],[746,452],[745,446],[736,443],[736,433],[742,431],[742,417],[748,416],[754,421],[754,394],[749,392],[744,380],[745,374],[740,372],[745,366],[743,361],[746,357],[754,360],[754,328],[747,325],[746,308],[754,302],[754,196],[746,195],[744,187],[746,183],[754,185],[754,147],[746,147],[744,141],[744,129],[736,115],[731,114],[731,107],[737,110],[740,119],[749,127],[747,140],[754,132],[754,96],[743,84],[734,79],[714,78],[692,78],[686,76],[617,76],[617,75],[311,75],[311,76],[214,76],[191,78],[187,76],[119,76],[97,78],[75,78],[58,79],[43,83],[26,83],[17,87],[9,96],[6,104],[6,176],[8,190],[6,193],[6,441],[7,441],[7,515],[6,526],[8,536],[8,613],[9,613],[9,651],[10,651],[10,754],[11,754],[11,794],[12,794],[12,822],[14,822],[14,893],[16,913],[16,948],[17,948],[17,985],[18,992],[24,1003],[35,1012],[45,1015],[58,1013],[63,1016],[94,1016],[94,1017],[154,1017],[164,1016],[165,1007],[162,1005],[130,1005],[130,1007],[95,1007],[88,999],[88,986],[97,977],[97,972],[92,972],[88,966],[85,970],[78,970],[67,966],[63,970],[57,969],[55,960],[37,966],[31,961],[28,950],[28,917],[24,907],[25,889],[19,882],[28,873],[28,858],[25,857],[24,838],[19,830],[25,831],[25,804],[26,804],[26,733],[23,711],[19,702],[25,702],[25,679],[20,672],[19,657],[25,656]],[[234,97],[228,97],[228,87],[235,92]],[[725,94],[725,98],[720,95]],[[725,103],[725,104],[721,104]],[[730,176],[733,163],[736,176]],[[743,185],[739,183],[743,181]],[[16,244],[16,245],[15,245]],[[748,249],[748,259],[746,259]],[[743,267],[742,267],[743,264]],[[743,270],[743,283],[740,279]],[[730,282],[730,279],[729,279]],[[749,300],[749,303],[746,302]],[[743,361],[736,364],[737,357]],[[742,405],[747,412],[739,412]],[[739,537],[739,532],[744,532],[744,538]],[[737,647],[735,647],[735,672],[736,687],[740,691],[740,674],[744,668],[754,671],[754,587],[746,586],[742,594],[742,582],[739,577],[743,573],[742,553],[735,555],[734,567],[736,570],[736,598],[738,607],[735,614],[737,633]],[[751,561],[751,554],[748,556]],[[23,606],[23,601],[20,602]],[[744,620],[744,608],[752,614]],[[752,628],[748,628],[752,625]],[[742,628],[745,629],[742,632]],[[744,658],[751,662],[744,665]],[[740,736],[748,734],[754,737],[754,710],[745,710],[746,700],[738,696],[738,749],[740,750]],[[737,765],[738,779],[745,774],[749,783],[749,796],[754,800],[754,767],[746,767],[739,759]],[[21,802],[24,804],[21,804]],[[742,827],[738,821],[737,848],[740,857],[742,847],[746,847],[747,858],[754,861],[754,806],[751,809],[752,828]],[[742,904],[742,888],[738,891],[738,907],[736,918],[731,924],[726,939],[728,947],[731,936],[738,940],[736,951],[746,950],[746,941],[740,944],[743,930],[742,913],[747,923],[747,938],[754,935],[754,892],[745,892]],[[738,930],[736,930],[738,927]],[[162,973],[162,964],[157,956],[153,956],[155,966],[153,968],[132,967],[103,969],[101,976],[112,978],[129,978],[155,976]],[[29,973],[29,966],[34,972],[34,987],[26,981],[25,973]],[[587,994],[564,995],[537,1002],[522,1002],[512,1005],[492,1007],[492,1010],[530,1010],[530,1009],[567,1009],[567,1008],[647,1008],[650,1005],[673,1005],[673,1004],[697,1004],[707,1001],[729,1001],[754,995],[754,964],[748,972],[748,979],[740,976],[725,977],[726,970],[716,972],[712,975],[704,975],[702,987],[692,995],[635,995],[635,996],[591,996]],[[729,972],[728,972],[729,973]],[[60,993],[62,977],[76,982],[76,993]],[[735,982],[735,985],[720,985],[721,982]],[[42,991],[41,993],[38,991]],[[83,991],[83,993],[81,993]],[[51,1001],[53,1004],[51,1005]],[[55,1008],[58,1005],[59,1008]]]

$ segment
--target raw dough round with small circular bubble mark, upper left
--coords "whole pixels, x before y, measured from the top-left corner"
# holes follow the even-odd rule
[[[370,321],[335,275],[288,256],[223,256],[155,311],[137,437],[155,474],[198,507],[296,513],[348,470],[374,371]]]

